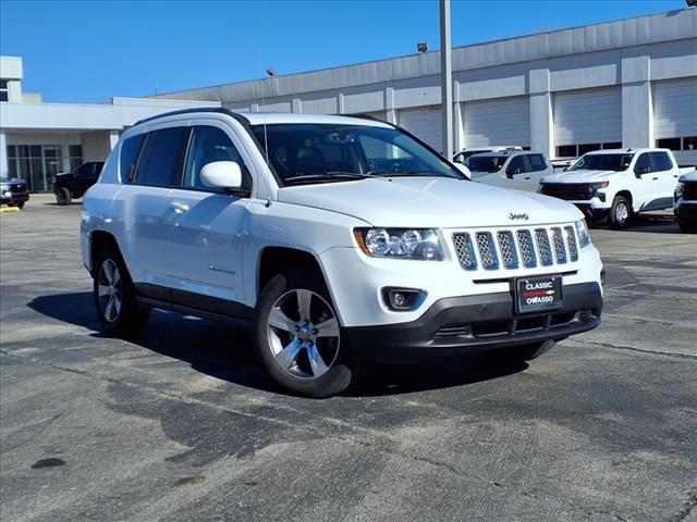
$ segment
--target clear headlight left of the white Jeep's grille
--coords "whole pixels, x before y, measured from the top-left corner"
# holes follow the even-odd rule
[[[432,228],[356,228],[356,241],[372,258],[441,261],[443,251]]]

